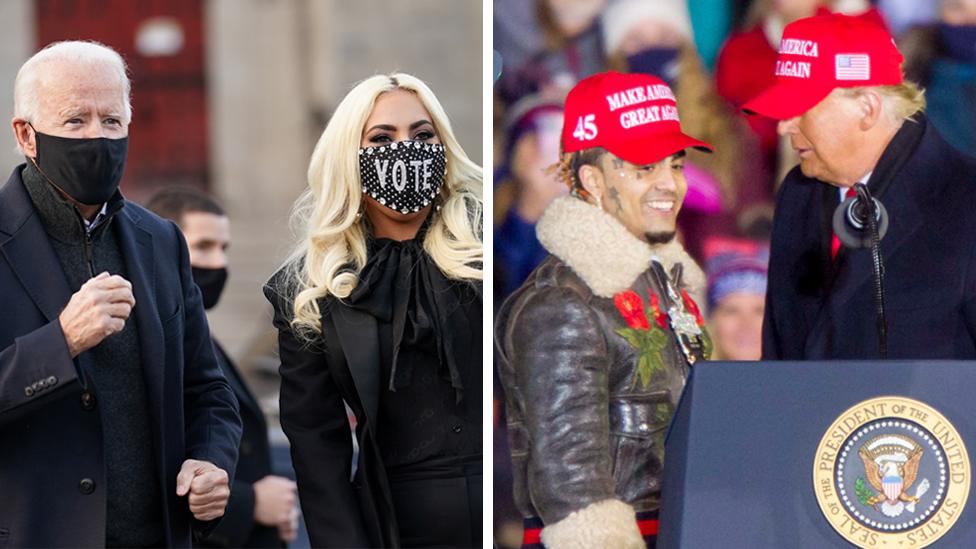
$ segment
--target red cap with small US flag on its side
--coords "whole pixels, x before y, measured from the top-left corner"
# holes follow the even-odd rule
[[[815,107],[834,88],[901,84],[902,61],[891,35],[872,17],[800,19],[783,30],[776,83],[742,110],[787,120]]]

